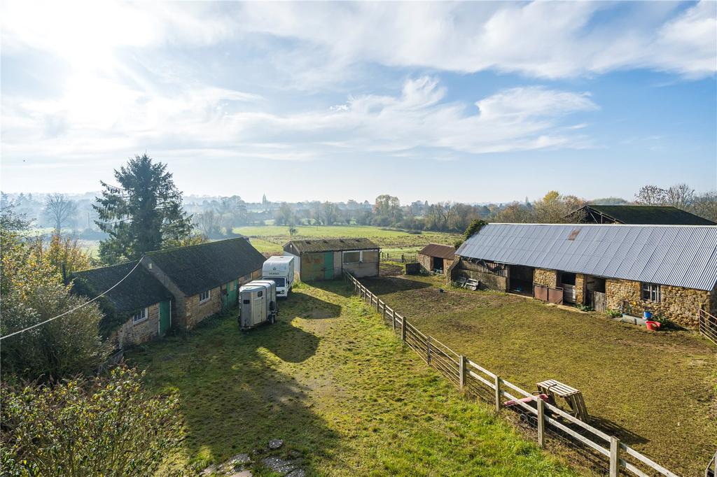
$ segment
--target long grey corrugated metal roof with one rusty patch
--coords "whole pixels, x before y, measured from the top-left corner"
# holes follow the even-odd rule
[[[489,223],[456,255],[711,290],[717,226]]]

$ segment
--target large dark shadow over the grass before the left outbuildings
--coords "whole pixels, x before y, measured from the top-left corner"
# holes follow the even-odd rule
[[[320,307],[340,313],[338,305],[296,294],[280,304],[275,324],[241,332],[232,314],[130,356],[147,368],[151,390],[179,392],[187,429],[184,446],[196,470],[258,450],[255,461],[270,454],[298,456],[300,467],[311,475],[318,472],[315,458],[331,458],[340,447],[339,436],[312,410],[311,389],[298,382],[292,367],[315,355],[320,344],[319,337],[292,320],[298,312]],[[270,439],[285,444],[270,452]]]

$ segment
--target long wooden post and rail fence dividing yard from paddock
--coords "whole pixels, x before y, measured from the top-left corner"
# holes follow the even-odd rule
[[[581,450],[597,456],[611,477],[618,476],[621,471],[640,477],[655,475],[678,477],[677,474],[643,456],[629,445],[620,442],[614,435],[608,435],[565,410],[546,403],[531,392],[459,355],[435,337],[423,334],[406,317],[397,313],[361,284],[355,276],[347,273],[346,282],[349,286],[353,286],[354,292],[359,294],[359,297],[371,308],[375,307],[376,312],[384,319],[384,323],[399,334],[404,344],[462,392],[494,403],[497,413],[505,409],[504,400],[513,401],[515,404],[511,405],[511,408],[522,413],[521,420],[524,416],[525,420],[533,423],[533,427],[537,430],[538,445],[541,447],[546,445],[548,435],[569,440],[572,444],[577,443]],[[528,398],[527,402],[525,398]]]

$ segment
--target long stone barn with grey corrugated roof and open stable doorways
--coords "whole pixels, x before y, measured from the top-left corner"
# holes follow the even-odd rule
[[[456,251],[448,279],[683,327],[717,311],[717,226],[489,223]]]

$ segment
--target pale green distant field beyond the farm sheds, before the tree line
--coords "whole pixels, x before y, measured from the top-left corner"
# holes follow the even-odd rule
[[[252,237],[252,244],[255,244],[260,251],[262,251],[260,247],[269,247],[265,242],[282,245],[292,238],[364,237],[370,238],[384,249],[404,250],[407,253],[414,253],[429,242],[453,244],[460,238],[460,234],[457,233],[408,233],[371,226],[298,226],[296,230],[296,235],[292,237],[289,235],[289,228],[286,226],[234,227],[233,229],[234,233],[242,233]],[[261,241],[257,240],[257,238]]]

